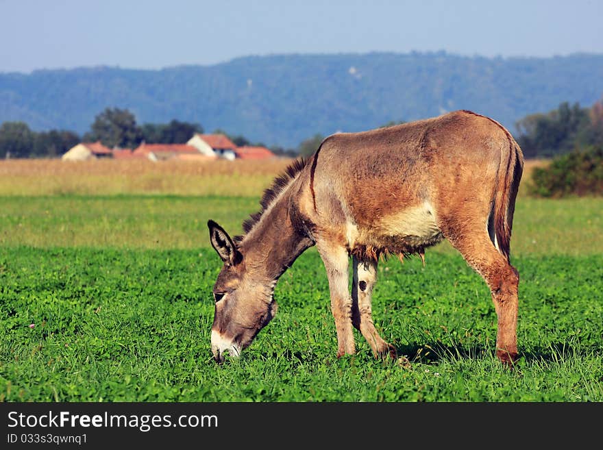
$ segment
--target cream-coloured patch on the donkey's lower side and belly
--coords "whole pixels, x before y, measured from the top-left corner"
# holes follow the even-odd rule
[[[432,205],[423,203],[374,217],[369,226],[348,227],[350,247],[373,247],[380,253],[418,253],[443,239]]]

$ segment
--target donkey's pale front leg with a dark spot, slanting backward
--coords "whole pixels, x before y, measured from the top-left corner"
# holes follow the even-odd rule
[[[371,306],[371,296],[373,286],[377,281],[377,262],[372,260],[358,260],[353,258],[354,276],[352,284],[352,324],[360,330],[365,337],[373,354],[378,357],[385,355],[395,359],[396,350],[393,345],[385,342],[373,325],[373,314]]]

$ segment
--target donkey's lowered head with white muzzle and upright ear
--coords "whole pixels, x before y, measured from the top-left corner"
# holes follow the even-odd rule
[[[225,352],[238,357],[276,314],[273,280],[245,260],[224,229],[208,221],[210,240],[224,266],[214,284],[216,301],[212,325],[212,353],[217,362]]]

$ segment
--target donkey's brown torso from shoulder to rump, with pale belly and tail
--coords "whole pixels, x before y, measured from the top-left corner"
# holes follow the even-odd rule
[[[420,253],[470,221],[480,232],[489,227],[493,244],[508,255],[523,157],[490,118],[458,111],[335,134],[313,158],[309,214],[330,233],[339,229],[352,252]],[[495,206],[509,214],[498,237]]]

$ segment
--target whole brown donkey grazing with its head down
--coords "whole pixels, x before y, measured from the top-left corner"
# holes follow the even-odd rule
[[[326,138],[275,179],[262,210],[243,223],[243,236],[230,238],[208,221],[224,262],[213,290],[215,360],[240,355],[269,323],[275,284],[312,245],[328,276],[337,356],[355,352],[354,326],[376,356],[395,358],[371,316],[377,262],[389,254],[423,259],[426,247],[447,238],[488,284],[498,317],[496,355],[512,365],[519,274],[509,263],[509,242],[523,166],[519,145],[500,123],[465,110]]]

